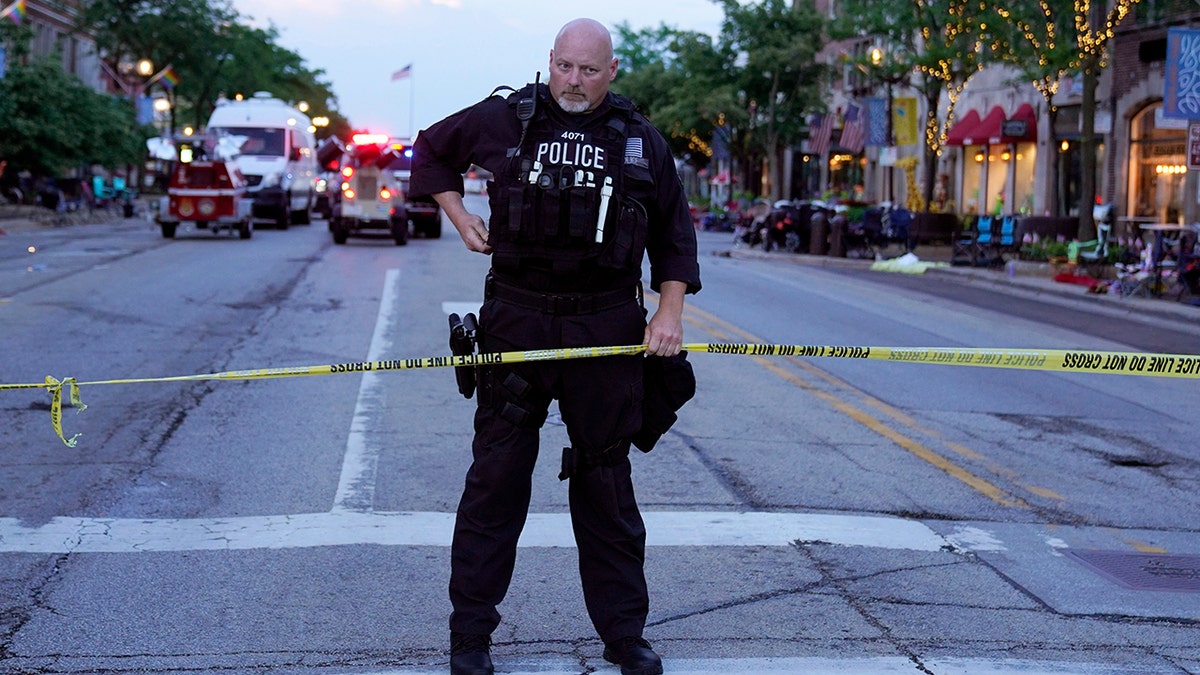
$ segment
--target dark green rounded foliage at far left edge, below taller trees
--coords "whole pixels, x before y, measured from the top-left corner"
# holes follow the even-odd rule
[[[62,72],[56,56],[10,65],[0,79],[0,157],[36,175],[137,163],[148,130],[133,106]]]

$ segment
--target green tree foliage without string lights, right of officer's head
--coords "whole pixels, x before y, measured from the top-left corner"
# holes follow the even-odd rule
[[[808,2],[716,1],[725,22],[715,41],[665,25],[634,31],[619,24],[614,90],[632,98],[690,163],[704,167],[720,136],[740,166],[766,161],[778,191],[778,150],[800,138],[808,113],[823,109],[826,68],[816,58],[823,22]]]

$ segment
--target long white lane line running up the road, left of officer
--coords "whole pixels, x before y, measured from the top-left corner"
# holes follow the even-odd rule
[[[376,316],[374,333],[371,335],[366,360],[380,360],[383,354],[390,351],[388,329],[395,319],[398,280],[398,269],[389,269],[384,276],[379,313]],[[379,464],[380,448],[373,448],[367,443],[366,431],[368,422],[383,408],[384,395],[380,374],[364,372],[362,382],[359,384],[359,398],[354,404],[350,432],[346,438],[342,476],[337,482],[337,494],[334,496],[335,512],[367,512],[374,506],[376,468]]]

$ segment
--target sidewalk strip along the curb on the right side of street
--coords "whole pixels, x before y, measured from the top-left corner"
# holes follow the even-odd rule
[[[919,246],[913,253],[925,263],[934,263],[924,274],[956,281],[978,283],[990,291],[1037,298],[1043,301],[1069,304],[1075,309],[1087,309],[1114,318],[1142,323],[1169,322],[1172,327],[1200,333],[1200,306],[1174,298],[1142,298],[1111,293],[1090,293],[1086,286],[1062,283],[1054,280],[1055,270],[1049,263],[1015,261],[1009,268],[952,267],[950,246]],[[890,251],[889,256],[899,252]],[[718,253],[722,255],[722,253]],[[780,251],[764,252],[761,249],[736,247],[728,256],[748,259],[772,259],[816,267],[840,267],[870,269],[875,263],[864,258],[834,258]],[[877,274],[896,274],[878,271]]]

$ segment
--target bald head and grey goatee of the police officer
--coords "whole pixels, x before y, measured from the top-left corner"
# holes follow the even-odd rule
[[[575,19],[558,31],[550,50],[550,94],[568,113],[594,110],[617,77],[612,35],[595,19]]]

